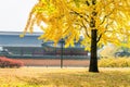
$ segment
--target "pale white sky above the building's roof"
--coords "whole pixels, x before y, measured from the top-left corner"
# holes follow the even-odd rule
[[[23,32],[28,14],[37,1],[0,0],[0,32]]]

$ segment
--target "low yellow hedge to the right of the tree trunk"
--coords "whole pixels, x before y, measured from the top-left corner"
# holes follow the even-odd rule
[[[99,61],[100,67],[130,67],[130,58],[103,58]]]

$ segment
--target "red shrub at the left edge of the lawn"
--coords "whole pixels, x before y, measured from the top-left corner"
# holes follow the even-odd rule
[[[24,63],[20,60],[0,57],[0,67],[21,67],[21,66],[24,66]]]

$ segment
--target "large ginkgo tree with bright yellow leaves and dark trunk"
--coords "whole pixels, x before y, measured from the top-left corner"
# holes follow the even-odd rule
[[[89,72],[99,72],[98,47],[108,42],[130,47],[130,1],[38,0],[24,34],[32,33],[35,25],[43,30],[39,39],[54,45],[65,38],[65,47],[74,47],[82,36],[81,46],[91,51]],[[123,37],[127,37],[126,45]]]

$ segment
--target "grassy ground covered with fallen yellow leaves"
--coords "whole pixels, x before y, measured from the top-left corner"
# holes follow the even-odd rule
[[[0,69],[0,87],[130,87],[130,69]]]

